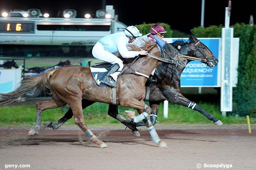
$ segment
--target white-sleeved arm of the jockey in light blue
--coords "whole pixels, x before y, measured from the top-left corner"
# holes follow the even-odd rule
[[[134,58],[139,55],[139,51],[128,51],[126,47],[126,38],[119,37],[116,40],[117,49],[123,58]]]

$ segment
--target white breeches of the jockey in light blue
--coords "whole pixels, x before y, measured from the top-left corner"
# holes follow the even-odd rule
[[[98,58],[102,61],[110,62],[111,64],[119,64],[120,68],[118,69],[118,71],[122,71],[122,68],[124,67],[124,64],[122,64],[122,60],[110,53],[109,51],[106,51],[101,43],[97,42],[95,46],[93,46],[92,53],[93,57]],[[120,72],[115,72],[111,74],[111,77],[113,77],[114,80],[117,80],[117,75],[119,73]]]

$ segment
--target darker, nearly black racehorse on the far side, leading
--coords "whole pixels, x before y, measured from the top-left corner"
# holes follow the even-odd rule
[[[190,36],[188,42],[184,42],[183,40],[177,40],[172,43],[175,48],[179,50],[179,53],[186,56],[196,57],[196,58],[187,58],[188,62],[192,60],[200,60],[200,62],[205,63],[209,67],[216,66],[218,63],[217,58],[213,55],[210,49],[207,48],[202,42],[200,42],[197,38]],[[146,84],[148,86],[149,98],[146,99],[150,103],[150,108],[152,108],[151,112],[151,121],[153,124],[156,123],[157,114],[159,104],[165,100],[180,104],[182,106],[186,106],[193,110],[196,110],[205,117],[207,117],[210,121],[213,121],[216,125],[221,125],[222,122],[215,118],[210,113],[204,111],[200,106],[198,106],[195,102],[191,102],[189,99],[184,97],[180,92],[180,75],[184,67],[173,67],[172,65],[161,64],[156,68],[154,73],[154,77],[156,77],[157,82]],[[82,107],[86,108],[87,106],[93,104],[93,101],[87,101],[85,99],[82,100]],[[139,132],[137,131],[136,126],[144,126],[144,122],[139,122],[137,124],[133,124],[132,122],[127,122],[127,119],[122,117],[117,111],[117,106],[109,105],[108,114],[121,121],[123,124],[128,126],[133,130],[133,134],[139,136]],[[69,109],[68,112],[59,119],[56,123],[52,123],[50,121],[45,122],[45,126],[49,128],[53,128],[54,130],[58,129],[61,124],[66,122],[68,119],[71,119],[73,113],[72,110]]]

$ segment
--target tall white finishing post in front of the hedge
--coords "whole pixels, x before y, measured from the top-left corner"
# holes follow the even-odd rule
[[[231,13],[231,1],[225,9],[225,27],[222,28],[221,35],[221,113],[226,116],[226,112],[232,111],[232,55],[234,29],[229,27]]]

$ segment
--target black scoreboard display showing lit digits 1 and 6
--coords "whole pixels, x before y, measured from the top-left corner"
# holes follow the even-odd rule
[[[0,33],[34,33],[35,22],[0,21]]]

